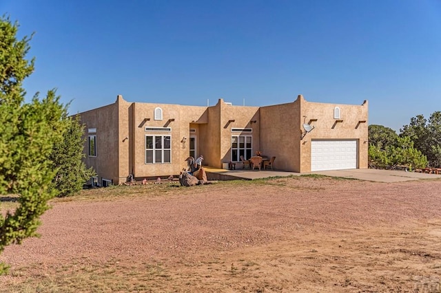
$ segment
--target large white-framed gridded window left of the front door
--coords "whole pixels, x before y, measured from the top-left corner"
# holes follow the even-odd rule
[[[172,137],[170,135],[145,135],[145,164],[172,162]]]

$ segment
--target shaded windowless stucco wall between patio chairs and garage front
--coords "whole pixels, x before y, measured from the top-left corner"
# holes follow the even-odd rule
[[[260,107],[261,151],[274,168],[300,172],[300,103]]]

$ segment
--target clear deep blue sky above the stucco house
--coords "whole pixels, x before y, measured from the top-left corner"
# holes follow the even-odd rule
[[[398,131],[441,111],[440,0],[1,0],[35,32],[28,96],[70,113],[131,102],[361,105]]]

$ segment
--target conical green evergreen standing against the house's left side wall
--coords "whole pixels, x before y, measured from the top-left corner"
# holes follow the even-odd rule
[[[54,144],[51,160],[54,169],[57,169],[57,176],[54,178],[54,185],[59,192],[59,197],[65,197],[81,191],[83,184],[90,177],[95,175],[92,167],[87,169],[81,159],[83,153],[84,125],[81,124],[79,116],[65,117],[68,122],[63,140]]]

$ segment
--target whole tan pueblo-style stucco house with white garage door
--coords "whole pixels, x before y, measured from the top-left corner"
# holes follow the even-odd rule
[[[87,136],[85,164],[102,186],[135,178],[177,175],[192,155],[204,164],[275,156],[274,169],[309,172],[367,168],[368,103],[294,102],[265,107],[211,107],[127,102],[78,114]]]

